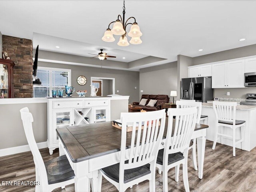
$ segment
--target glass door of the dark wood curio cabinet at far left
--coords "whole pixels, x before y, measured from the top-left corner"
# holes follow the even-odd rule
[[[9,98],[8,65],[6,64],[0,64],[0,91],[1,98]]]

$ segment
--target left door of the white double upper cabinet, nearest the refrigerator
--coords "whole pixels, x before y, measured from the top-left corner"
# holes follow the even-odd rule
[[[212,65],[212,88],[226,88],[226,63]]]

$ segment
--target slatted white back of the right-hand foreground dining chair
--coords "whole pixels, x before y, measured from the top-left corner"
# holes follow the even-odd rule
[[[176,123],[172,134],[173,119],[168,118],[168,130],[164,150],[167,150],[166,152],[168,154],[184,151],[189,146],[196,125],[197,108],[169,108],[167,113],[169,117],[176,117]]]

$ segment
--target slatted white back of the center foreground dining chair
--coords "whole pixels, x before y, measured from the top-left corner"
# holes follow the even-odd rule
[[[164,133],[165,116],[165,110],[121,113],[120,179],[123,180],[124,170],[140,167],[156,160]],[[159,121],[161,121],[160,126]],[[128,139],[126,128],[131,125],[132,138]]]

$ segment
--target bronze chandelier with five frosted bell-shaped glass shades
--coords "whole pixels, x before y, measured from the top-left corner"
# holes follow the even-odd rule
[[[112,21],[110,24],[114,23],[113,28],[110,29],[110,24],[108,25],[108,28],[106,32],[104,33],[104,36],[102,37],[103,41],[106,42],[113,42],[115,38],[114,35],[121,35],[119,38],[119,42],[117,43],[119,46],[128,46],[128,40],[126,37],[126,27],[131,24],[130,32],[128,32],[128,36],[131,37],[131,40],[129,41],[131,44],[141,44],[142,40],[140,40],[140,36],[142,36],[142,32],[140,32],[140,27],[138,26],[138,23],[136,23],[136,19],[134,17],[128,18],[126,21],[124,20],[125,15],[125,6],[123,6],[123,18],[121,15],[118,15],[116,21]],[[130,19],[134,19],[134,22],[129,22]]]

